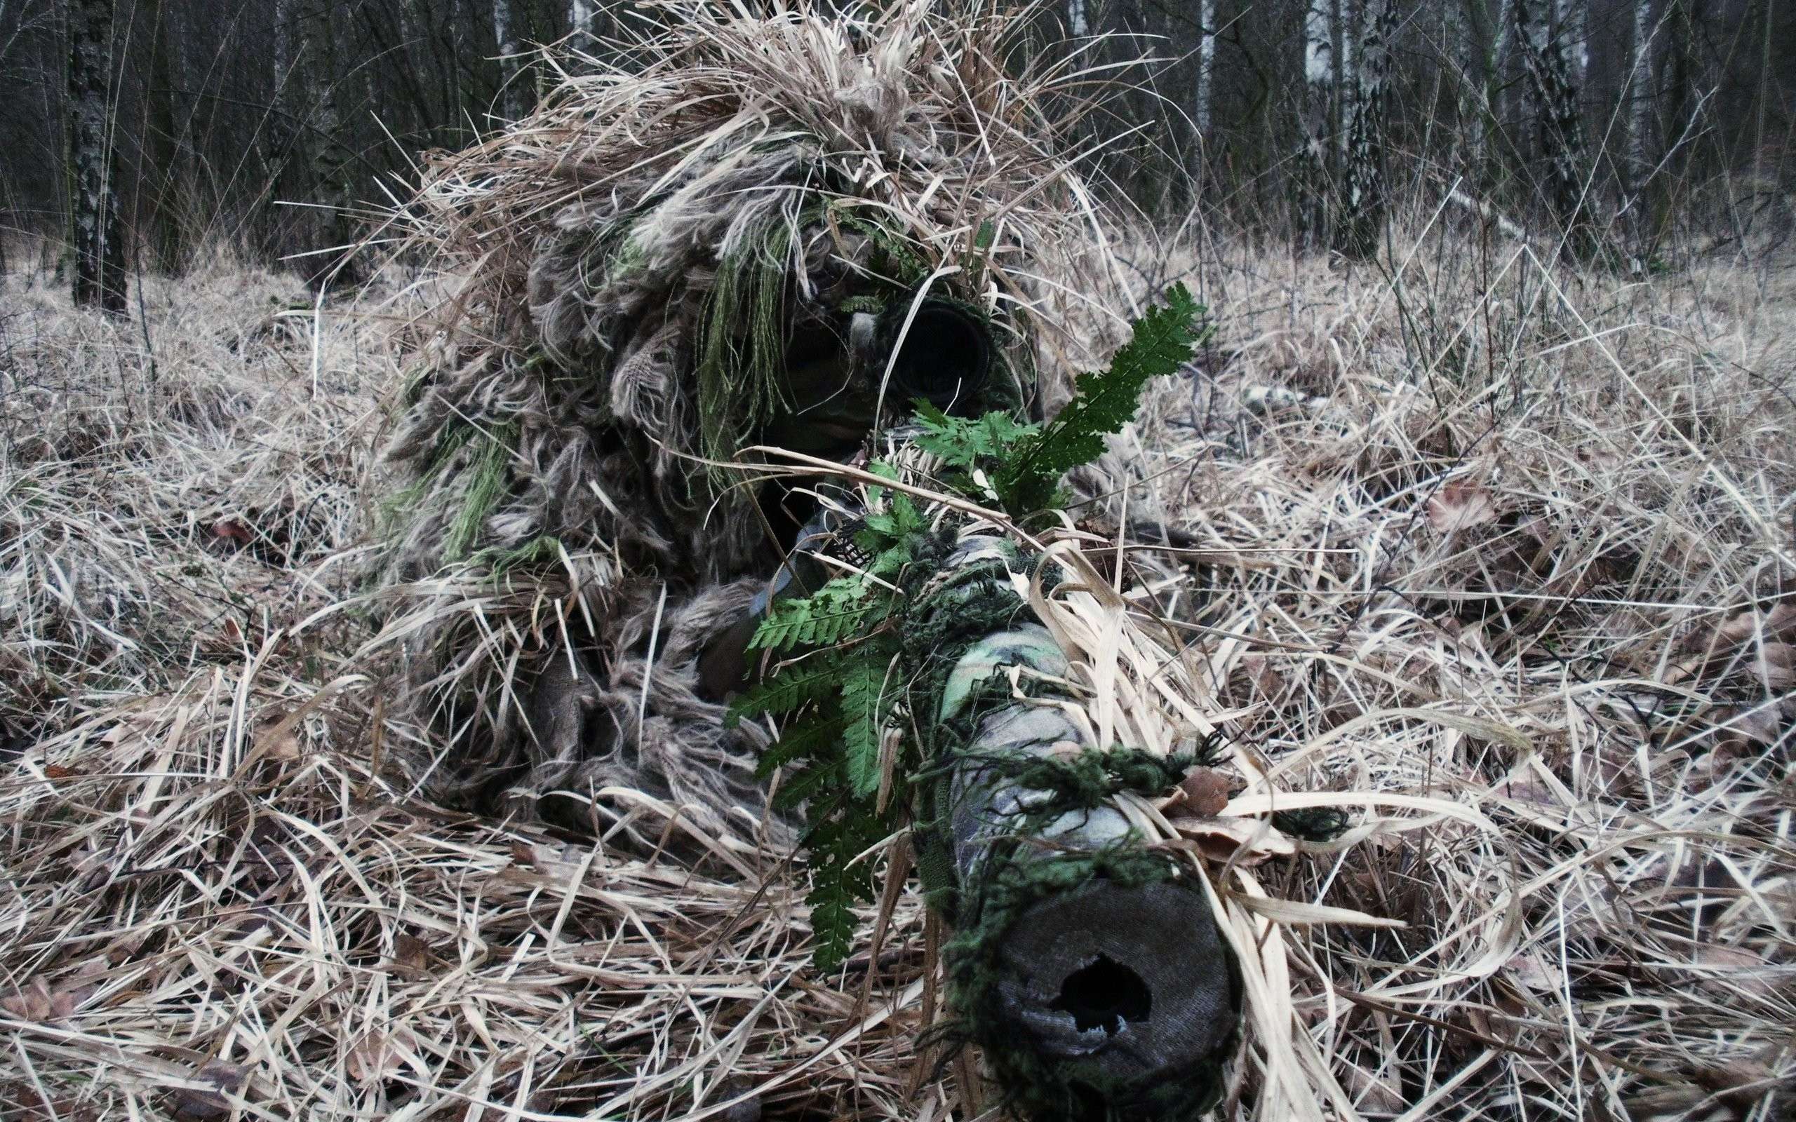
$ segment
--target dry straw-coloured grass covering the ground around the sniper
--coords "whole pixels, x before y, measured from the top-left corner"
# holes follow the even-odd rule
[[[1789,1117],[1796,267],[1153,260],[1218,323],[1135,434],[1205,551],[1175,614],[1230,732],[1363,808],[1257,872],[1406,925],[1284,926],[1245,1056],[1315,1057],[1306,1118]],[[0,1117],[991,1106],[918,1059],[914,896],[817,977],[753,837],[645,797],[682,856],[594,847],[386,767],[381,316],[224,257],[120,323],[0,280]],[[1227,1117],[1299,1077],[1234,1070]]]

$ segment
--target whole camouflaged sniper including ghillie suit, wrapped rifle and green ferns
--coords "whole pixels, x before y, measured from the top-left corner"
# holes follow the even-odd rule
[[[607,837],[641,797],[753,826],[756,765],[790,765],[824,960],[855,856],[914,820],[959,932],[943,1034],[1033,1117],[1185,1118],[1241,977],[1157,806],[1212,729],[1099,596],[1090,539],[1018,521],[1153,364],[1081,382],[1083,429],[1034,424],[1094,217],[1004,31],[675,7],[627,72],[438,162],[411,217],[460,280],[392,443],[413,483],[384,636],[444,801]],[[1185,329],[1162,325],[1162,373]]]

